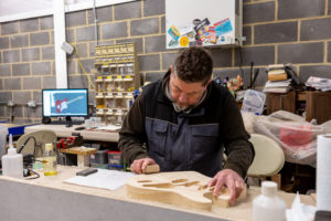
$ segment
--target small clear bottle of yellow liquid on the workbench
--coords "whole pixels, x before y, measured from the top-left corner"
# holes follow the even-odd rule
[[[44,176],[57,175],[56,155],[53,150],[53,144],[45,144],[45,151],[43,155],[43,170]]]

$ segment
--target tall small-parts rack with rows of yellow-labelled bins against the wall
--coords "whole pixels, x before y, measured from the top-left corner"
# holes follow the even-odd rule
[[[140,86],[135,43],[95,48],[95,85],[97,115],[106,124],[121,124]],[[111,110],[109,110],[109,107]],[[125,107],[125,108],[124,108]],[[113,122],[117,120],[117,122]]]

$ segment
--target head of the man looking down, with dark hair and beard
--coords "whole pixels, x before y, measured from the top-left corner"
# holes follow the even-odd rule
[[[180,52],[171,66],[170,93],[180,109],[194,107],[211,83],[213,60],[203,48],[189,48]]]

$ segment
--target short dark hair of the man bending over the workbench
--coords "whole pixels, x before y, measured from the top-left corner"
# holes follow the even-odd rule
[[[175,59],[173,69],[180,80],[205,85],[213,73],[212,55],[202,46],[184,49]]]

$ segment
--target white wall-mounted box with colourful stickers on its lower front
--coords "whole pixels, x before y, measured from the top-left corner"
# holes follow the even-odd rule
[[[241,0],[167,0],[167,49],[238,44]]]

